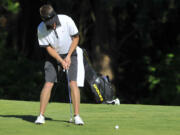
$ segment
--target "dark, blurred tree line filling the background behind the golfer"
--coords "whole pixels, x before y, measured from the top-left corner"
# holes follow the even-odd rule
[[[79,45],[87,49],[96,71],[110,76],[123,103],[180,104],[180,1],[16,2],[18,13],[0,8],[0,17],[9,20],[1,27],[6,33],[5,43],[0,42],[0,46],[4,44],[0,54],[4,63],[0,68],[1,98],[39,100],[44,50],[38,46],[36,29],[41,21],[39,7],[49,3],[58,13],[75,20]],[[63,98],[62,93],[57,100]]]

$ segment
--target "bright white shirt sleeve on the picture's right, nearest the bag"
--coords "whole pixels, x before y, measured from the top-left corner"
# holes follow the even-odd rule
[[[71,17],[69,17],[68,19],[68,29],[69,29],[69,34],[71,36],[77,35],[79,33],[76,24],[74,23]]]

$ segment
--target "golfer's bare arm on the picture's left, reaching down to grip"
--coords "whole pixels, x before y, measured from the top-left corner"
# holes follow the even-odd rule
[[[63,69],[67,69],[67,63],[59,56],[59,54],[52,48],[51,46],[46,47],[46,51],[51,55],[54,59],[61,63]]]

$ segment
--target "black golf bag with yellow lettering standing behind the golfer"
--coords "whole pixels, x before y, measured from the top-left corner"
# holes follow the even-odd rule
[[[120,104],[119,99],[114,99],[114,89],[109,81],[109,77],[96,73],[85,49],[83,49],[83,58],[85,81],[89,84],[95,101],[104,104]]]

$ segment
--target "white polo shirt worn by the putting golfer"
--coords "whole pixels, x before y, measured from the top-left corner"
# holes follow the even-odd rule
[[[38,41],[41,47],[51,45],[58,54],[68,53],[72,36],[78,34],[78,29],[74,21],[67,15],[58,15],[60,26],[56,28],[58,38],[54,30],[47,30],[45,23],[41,22],[38,26]]]

